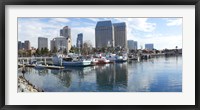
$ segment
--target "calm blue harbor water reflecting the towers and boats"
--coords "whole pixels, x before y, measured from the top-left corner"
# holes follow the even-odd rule
[[[26,68],[45,92],[181,92],[182,57],[158,57],[64,70]],[[21,69],[18,75],[21,75]]]

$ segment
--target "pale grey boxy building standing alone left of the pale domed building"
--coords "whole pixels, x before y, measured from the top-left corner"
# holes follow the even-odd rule
[[[38,49],[41,50],[42,48],[48,49],[48,39],[45,37],[38,37]]]

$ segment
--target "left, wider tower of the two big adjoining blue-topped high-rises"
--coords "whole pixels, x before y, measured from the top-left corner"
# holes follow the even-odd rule
[[[114,28],[111,21],[99,21],[95,27],[96,48],[114,46]]]

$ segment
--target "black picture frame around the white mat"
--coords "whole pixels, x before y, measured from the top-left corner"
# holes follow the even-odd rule
[[[195,5],[195,105],[5,105],[5,6],[6,5]],[[92,110],[199,110],[200,0],[1,0],[0,3],[0,108],[21,109],[92,109]],[[172,98],[173,99],[173,98]]]

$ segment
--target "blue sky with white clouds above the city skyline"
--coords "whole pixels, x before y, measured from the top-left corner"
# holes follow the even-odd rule
[[[98,21],[125,22],[127,40],[138,42],[138,48],[153,43],[155,49],[182,48],[182,18],[18,18],[18,41],[29,40],[31,47],[38,47],[38,37],[50,40],[60,36],[64,26],[71,28],[72,45],[76,45],[77,34],[83,33],[83,42],[95,46],[95,26]]]

